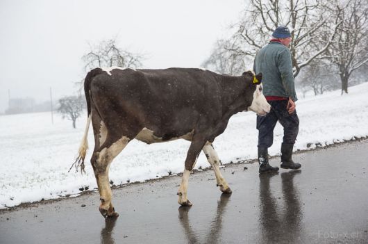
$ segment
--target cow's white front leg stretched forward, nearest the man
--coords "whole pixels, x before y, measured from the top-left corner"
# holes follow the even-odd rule
[[[203,152],[206,154],[208,163],[210,163],[212,166],[213,171],[215,171],[217,186],[219,186],[221,192],[230,194],[231,189],[228,187],[226,180],[219,170],[219,156],[217,156],[215,148],[212,146],[212,144],[208,143],[203,147]]]

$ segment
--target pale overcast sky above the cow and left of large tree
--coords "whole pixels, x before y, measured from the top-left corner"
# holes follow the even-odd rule
[[[146,68],[200,67],[244,0],[0,0],[0,113],[11,98],[73,95],[88,43],[117,37]]]

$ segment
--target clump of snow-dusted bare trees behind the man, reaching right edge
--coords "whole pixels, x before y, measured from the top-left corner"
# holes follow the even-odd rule
[[[353,72],[368,62],[367,15],[367,0],[250,0],[242,19],[231,26],[233,35],[217,41],[203,66],[241,74],[272,31],[285,25],[292,33],[294,77],[305,74],[299,79],[303,88],[331,87],[324,76],[335,74],[347,93]],[[308,79],[310,73],[317,79]]]

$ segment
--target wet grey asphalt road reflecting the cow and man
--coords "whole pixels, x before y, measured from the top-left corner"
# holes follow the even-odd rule
[[[115,221],[100,215],[97,193],[1,211],[0,243],[368,243],[368,140],[294,161],[300,171],[262,176],[256,163],[227,165],[232,195],[212,170],[196,172],[190,208],[176,202],[179,177],[115,189]]]

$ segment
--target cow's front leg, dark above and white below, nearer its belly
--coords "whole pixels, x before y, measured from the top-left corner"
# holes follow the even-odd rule
[[[201,152],[203,145],[205,145],[206,140],[201,136],[194,136],[192,143],[190,144],[189,150],[187,152],[187,158],[185,159],[185,170],[183,172],[183,178],[181,179],[181,185],[178,189],[178,204],[182,206],[192,206],[192,202],[187,199],[187,186],[190,177],[190,172],[193,170],[196,163],[196,159]]]

